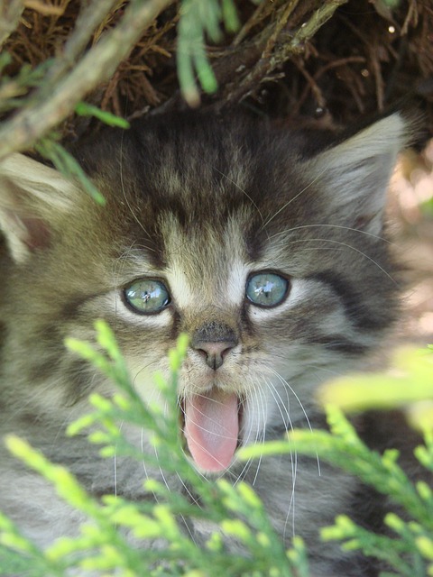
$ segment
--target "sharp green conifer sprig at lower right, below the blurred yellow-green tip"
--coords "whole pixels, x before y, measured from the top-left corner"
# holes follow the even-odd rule
[[[298,453],[317,455],[321,460],[332,463],[345,472],[353,474],[366,485],[372,486],[384,496],[403,508],[410,517],[403,521],[389,513],[385,525],[396,536],[379,536],[363,527],[358,527],[348,517],[336,518],[334,527],[325,527],[321,534],[325,540],[343,542],[348,550],[360,549],[395,569],[395,575],[425,577],[433,575],[433,491],[424,481],[415,486],[401,470],[396,450],[387,450],[382,455],[370,451],[359,439],[355,429],[345,419],[340,409],[327,408],[330,432],[295,430],[286,441],[274,441],[257,446],[244,447],[239,451],[242,459],[262,455],[290,453],[293,444]],[[415,452],[419,462],[433,472],[433,432],[426,434],[426,445]]]

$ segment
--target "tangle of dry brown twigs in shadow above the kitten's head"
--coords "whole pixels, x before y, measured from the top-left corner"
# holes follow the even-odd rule
[[[4,119],[32,101],[46,78],[40,70],[27,85],[23,67],[37,71],[57,59],[60,68],[73,69],[115,29],[129,4],[100,0],[86,11],[79,0],[0,2],[0,40],[10,57],[0,84]],[[223,33],[217,43],[207,39],[218,89],[202,95],[202,105],[243,101],[265,114],[332,126],[381,112],[417,90],[433,133],[432,0],[234,4],[237,32]],[[88,102],[124,117],[185,105],[176,72],[180,2],[161,2],[156,14],[113,74],[83,94]],[[52,74],[60,75],[59,69]],[[67,114],[58,130],[75,138],[89,128],[88,119]]]

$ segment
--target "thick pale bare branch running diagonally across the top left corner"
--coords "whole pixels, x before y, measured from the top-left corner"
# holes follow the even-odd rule
[[[13,151],[22,151],[64,120],[75,105],[110,78],[144,30],[173,0],[133,0],[119,23],[78,62],[68,76],[61,78],[52,92],[39,90],[32,105],[23,108],[0,130],[0,159]],[[50,83],[51,84],[51,83]]]

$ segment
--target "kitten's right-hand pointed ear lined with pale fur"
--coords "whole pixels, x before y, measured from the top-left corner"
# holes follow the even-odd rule
[[[309,160],[328,209],[340,222],[381,234],[386,191],[411,124],[403,114],[391,114]]]

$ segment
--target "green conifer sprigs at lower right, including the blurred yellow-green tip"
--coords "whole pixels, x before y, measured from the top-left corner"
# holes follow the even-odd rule
[[[298,453],[332,463],[353,474],[399,505],[409,520],[394,513],[384,518],[393,536],[375,535],[348,517],[336,518],[334,527],[324,527],[325,540],[342,542],[346,550],[359,549],[367,556],[387,563],[395,573],[382,577],[433,575],[433,345],[427,349],[403,348],[393,355],[392,368],[384,373],[345,376],[330,381],[318,395],[327,405],[330,432],[295,430],[285,441],[240,449],[239,457],[249,459],[267,454],[290,453],[293,444]],[[402,408],[410,425],[424,434],[424,445],[415,448],[419,463],[431,472],[431,482],[415,485],[399,466],[395,449],[382,455],[371,451],[356,435],[355,428],[344,417],[347,412],[367,409]],[[386,416],[384,417],[386,418]]]

